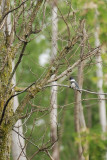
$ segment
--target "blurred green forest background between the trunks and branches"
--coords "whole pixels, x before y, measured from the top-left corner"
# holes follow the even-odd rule
[[[41,7],[34,24],[40,29],[43,23],[43,12],[45,10],[44,25],[42,31],[36,35],[31,35],[32,39],[24,52],[23,60],[21,61],[17,71],[16,80],[18,87],[27,87],[36,80],[41,79],[51,61],[52,57],[52,2],[47,1],[45,7]],[[11,2],[12,4],[12,2]],[[57,5],[56,5],[57,4]],[[82,20],[85,23],[85,30],[88,34],[87,46],[84,52],[87,52],[88,47],[95,48],[101,46],[101,61],[98,62],[97,56],[86,60],[87,63],[83,67],[83,85],[82,88],[88,91],[107,93],[107,1],[106,0],[57,0],[57,54],[68,43],[68,28],[70,29],[70,38],[72,39],[79,30],[79,24]],[[43,10],[44,8],[44,10]],[[24,14],[26,19],[26,12]],[[21,20],[20,20],[20,23]],[[19,23],[19,24],[20,24]],[[66,24],[67,23],[67,24]],[[68,27],[69,26],[69,27]],[[67,28],[68,27],[68,28]],[[21,32],[18,31],[17,33]],[[96,39],[96,34],[97,38]],[[99,41],[98,43],[96,41]],[[80,43],[74,46],[69,52],[67,58],[61,61],[60,69],[57,74],[62,73],[69,66],[72,66],[80,57]],[[98,44],[98,45],[97,45]],[[17,62],[16,57],[16,62]],[[102,67],[102,76],[98,76],[98,66]],[[75,68],[71,74],[58,80],[57,83],[70,85],[67,81],[69,76],[73,76],[78,81],[78,68]],[[40,79],[39,79],[40,78]],[[103,80],[103,90],[99,91],[98,81]],[[80,87],[81,88],[81,87]],[[18,96],[19,102],[23,99],[23,93]],[[58,136],[58,152],[59,157],[54,160],[77,160],[78,145],[81,143],[82,149],[85,145],[85,153],[83,156],[86,160],[105,160],[107,159],[107,126],[103,126],[103,117],[101,117],[101,108],[99,102],[104,101],[107,107],[106,95],[101,99],[100,95],[82,93],[81,103],[85,118],[85,129],[78,132],[75,130],[75,91],[68,87],[58,87],[57,91],[57,136]],[[29,102],[24,113],[27,117],[22,118],[23,134],[26,143],[26,154],[29,157],[38,150],[33,144],[26,141],[31,140],[37,146],[47,144],[50,140],[51,121],[50,121],[50,102],[51,87],[47,87],[39,92],[36,97]],[[31,114],[32,113],[32,114]],[[106,122],[104,122],[106,124]],[[86,149],[87,148],[87,149]],[[32,160],[48,160],[52,159],[52,148],[49,148],[49,153],[40,151],[32,157]],[[84,149],[83,149],[84,152]],[[12,159],[12,156],[11,156]]]

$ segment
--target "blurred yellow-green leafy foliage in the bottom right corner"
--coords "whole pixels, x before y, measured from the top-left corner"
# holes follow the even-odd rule
[[[103,160],[105,159],[106,154],[106,146],[107,141],[105,140],[107,138],[106,134],[102,134],[100,129],[92,129],[88,132],[81,132],[81,138],[78,137],[77,134],[75,134],[75,142],[78,145],[78,142],[81,142],[82,147],[84,145],[88,145],[88,150],[85,153],[85,155],[89,154],[89,157],[91,160]],[[85,156],[84,155],[84,156]]]

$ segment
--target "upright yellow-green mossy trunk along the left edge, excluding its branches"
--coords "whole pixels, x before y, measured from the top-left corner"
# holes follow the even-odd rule
[[[9,1],[2,0],[0,6],[0,18],[9,10]],[[12,71],[12,54],[10,53],[10,26],[8,15],[5,23],[0,29],[0,119],[3,112],[4,104],[12,94],[12,90],[7,88],[8,79]],[[8,89],[8,92],[6,92]],[[13,113],[12,101],[6,109],[4,119],[0,125],[0,160],[10,159],[11,133],[9,132],[8,119]]]

